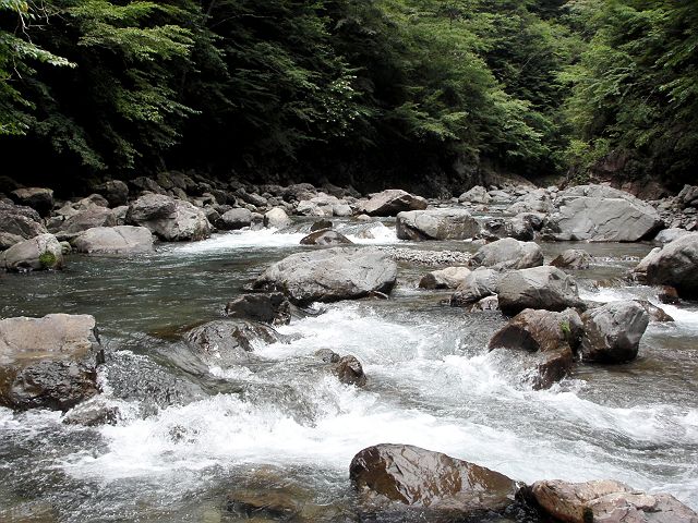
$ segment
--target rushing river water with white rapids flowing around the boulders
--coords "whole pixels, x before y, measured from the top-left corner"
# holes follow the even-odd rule
[[[292,341],[257,346],[262,363],[207,367],[189,353],[181,332],[218,318],[269,263],[308,248],[298,245],[306,228],[219,234],[127,259],[72,256],[62,272],[2,277],[1,317],[97,318],[108,349],[101,396],[120,418],[91,428],[0,409],[0,520],[239,521],[226,499],[243,491],[290,499],[302,521],[353,521],[348,465],[380,442],[524,482],[616,478],[698,509],[696,304],[662,305],[676,321],[650,324],[636,362],[579,365],[545,391],[486,352],[501,315],[444,306],[447,292],[416,289],[426,270],[417,266],[401,266],[388,301],[323,305],[280,327]],[[340,230],[358,243],[417,247],[398,242],[389,222]],[[543,245],[547,260],[567,247]],[[598,259],[576,275],[585,299],[654,300],[617,280],[650,245],[582,247]],[[368,386],[314,372],[308,356],[324,348],[356,355]]]

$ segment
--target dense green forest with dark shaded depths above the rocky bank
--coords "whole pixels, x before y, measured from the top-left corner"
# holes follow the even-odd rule
[[[0,175],[681,188],[695,0],[0,0]]]

